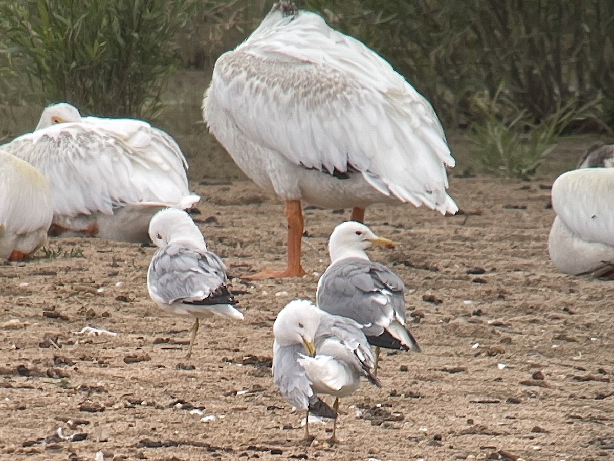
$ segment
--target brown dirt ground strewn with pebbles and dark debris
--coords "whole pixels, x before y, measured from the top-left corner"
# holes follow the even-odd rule
[[[271,378],[271,327],[290,300],[314,299],[349,210],[306,209],[308,276],[244,282],[284,265],[283,204],[246,180],[195,180],[194,218],[245,320],[203,322],[189,360],[192,321],[147,294],[153,247],[52,239],[1,265],[0,459],[614,459],[614,285],[548,259],[556,174],[464,176],[451,177],[454,217],[367,210],[398,244],[370,255],[405,281],[422,353],[383,355],[383,387],[341,400],[335,446],[331,422],[303,441],[303,413]]]

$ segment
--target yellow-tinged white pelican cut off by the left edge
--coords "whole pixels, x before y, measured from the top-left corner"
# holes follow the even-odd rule
[[[0,149],[0,259],[21,261],[41,247],[52,218],[47,179],[27,161]]]

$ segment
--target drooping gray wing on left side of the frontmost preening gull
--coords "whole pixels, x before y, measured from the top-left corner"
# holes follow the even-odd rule
[[[273,342],[273,380],[281,393],[298,409],[308,409],[316,416],[336,417],[335,411],[324,403],[311,389],[311,382],[297,362],[305,349],[302,344],[280,346]]]

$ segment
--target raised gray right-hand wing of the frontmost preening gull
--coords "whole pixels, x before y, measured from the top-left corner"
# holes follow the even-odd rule
[[[381,383],[373,374],[375,357],[359,323],[340,316],[324,316],[316,330],[317,354],[326,354],[353,365],[377,387]],[[341,347],[340,347],[341,346]]]

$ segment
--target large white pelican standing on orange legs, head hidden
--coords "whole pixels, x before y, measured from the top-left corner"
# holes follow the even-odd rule
[[[381,202],[458,211],[433,107],[373,50],[291,1],[220,56],[203,117],[243,172],[286,201],[287,268],[251,278],[305,274],[301,201],[352,207],[361,222]]]

